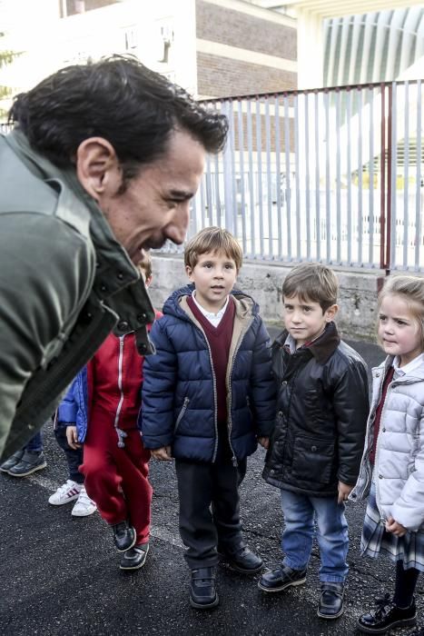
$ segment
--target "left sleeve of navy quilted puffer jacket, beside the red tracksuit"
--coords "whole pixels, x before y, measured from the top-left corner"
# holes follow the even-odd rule
[[[156,449],[173,442],[173,396],[177,355],[168,337],[166,316],[153,323],[150,333],[156,348],[143,363],[141,428],[145,448]]]

